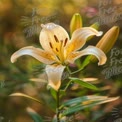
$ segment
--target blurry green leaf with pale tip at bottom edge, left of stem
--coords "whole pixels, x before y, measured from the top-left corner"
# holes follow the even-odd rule
[[[28,107],[26,110],[28,114],[33,118],[34,122],[44,122],[42,117],[38,113],[36,113],[33,109]]]

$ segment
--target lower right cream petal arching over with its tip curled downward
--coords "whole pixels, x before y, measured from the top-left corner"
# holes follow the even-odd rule
[[[71,55],[69,55],[67,60],[70,63],[73,63],[76,59],[80,58],[81,56],[85,56],[85,55],[96,56],[99,60],[98,65],[103,65],[107,60],[105,53],[95,46],[88,46],[87,48],[85,48],[82,51],[71,53]]]

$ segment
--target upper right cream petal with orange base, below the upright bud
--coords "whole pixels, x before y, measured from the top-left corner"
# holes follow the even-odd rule
[[[102,31],[97,31],[92,27],[84,27],[74,31],[71,38],[71,42],[69,42],[66,47],[68,54],[72,51],[76,51],[82,48],[86,43],[88,37],[93,35],[101,36]]]

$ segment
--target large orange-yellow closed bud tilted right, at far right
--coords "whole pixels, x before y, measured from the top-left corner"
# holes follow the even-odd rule
[[[110,30],[108,30],[102,39],[97,43],[96,47],[101,49],[104,53],[110,51],[110,49],[115,44],[119,35],[119,27],[114,26]]]

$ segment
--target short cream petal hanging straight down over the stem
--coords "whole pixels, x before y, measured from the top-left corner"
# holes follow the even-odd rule
[[[47,65],[46,73],[48,76],[48,85],[51,86],[56,91],[60,88],[61,77],[63,74],[65,66],[63,65]]]

